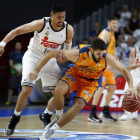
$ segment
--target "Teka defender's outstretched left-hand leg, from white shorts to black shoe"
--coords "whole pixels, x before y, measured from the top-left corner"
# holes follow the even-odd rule
[[[12,135],[14,133],[14,129],[17,125],[17,123],[20,121],[20,114],[22,109],[25,107],[27,103],[27,99],[30,96],[32,92],[32,88],[35,84],[35,81],[31,80],[29,78],[29,73],[33,71],[35,68],[35,65],[30,62],[30,57],[28,53],[26,52],[23,57],[23,70],[22,70],[22,81],[21,85],[22,91],[18,96],[15,112],[10,119],[10,122],[6,125],[5,128],[5,134],[6,135]]]

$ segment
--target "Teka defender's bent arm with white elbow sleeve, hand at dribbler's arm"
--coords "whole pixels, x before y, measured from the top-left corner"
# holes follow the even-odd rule
[[[71,50],[73,35],[74,35],[74,29],[71,25],[68,24],[67,39],[64,42],[64,50]],[[65,55],[62,54],[62,52],[58,53],[56,60],[60,63],[65,63],[67,61]]]

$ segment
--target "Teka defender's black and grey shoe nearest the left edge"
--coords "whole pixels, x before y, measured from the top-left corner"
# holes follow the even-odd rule
[[[15,114],[11,117],[11,120],[5,127],[5,134],[10,136],[14,133],[15,127],[17,123],[20,121],[20,116],[16,116]]]

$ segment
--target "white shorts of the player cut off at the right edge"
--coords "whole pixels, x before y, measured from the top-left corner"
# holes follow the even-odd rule
[[[140,84],[140,76],[139,75],[132,75],[132,79],[133,79],[134,89],[137,90],[137,86],[138,86],[138,84]],[[127,89],[128,89],[128,84],[126,82],[125,87],[124,87],[124,91],[126,91]]]

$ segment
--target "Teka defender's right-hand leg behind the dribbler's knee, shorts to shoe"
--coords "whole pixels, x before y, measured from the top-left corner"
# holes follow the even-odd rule
[[[44,73],[41,76],[41,81],[42,81],[42,90],[47,94],[47,92],[52,92],[54,95],[54,89],[56,87],[56,84],[60,78],[60,69],[58,66],[52,67],[53,70],[55,69],[55,73]],[[42,70],[43,71],[43,70]],[[45,71],[45,70],[44,70]],[[55,110],[55,105],[54,105],[54,97],[52,97],[48,103],[47,107],[39,115],[40,120],[43,122],[44,127],[46,127],[50,122],[51,122],[51,117],[52,114]]]

